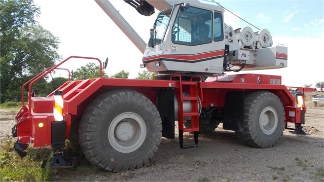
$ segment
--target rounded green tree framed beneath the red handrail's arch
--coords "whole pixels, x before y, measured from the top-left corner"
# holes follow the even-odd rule
[[[81,66],[76,71],[73,71],[71,80],[85,80],[85,79],[93,79],[99,77],[99,66],[90,62],[85,66]],[[102,70],[102,77],[108,77],[104,70]]]

